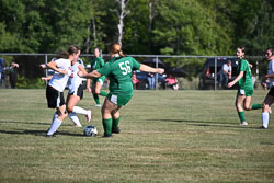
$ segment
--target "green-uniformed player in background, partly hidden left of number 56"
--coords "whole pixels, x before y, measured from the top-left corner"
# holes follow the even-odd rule
[[[91,60],[91,69],[96,70],[104,66],[104,60],[100,57],[100,50],[99,48],[94,49],[94,58]],[[95,106],[101,106],[99,95],[106,96],[107,93],[104,92],[102,89],[102,85],[104,84],[105,76],[102,76],[100,78],[94,78],[92,80],[92,94],[93,99],[96,102]]]

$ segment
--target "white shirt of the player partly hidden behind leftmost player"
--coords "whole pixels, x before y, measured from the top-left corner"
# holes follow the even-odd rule
[[[71,76],[68,80],[69,93],[75,92],[83,81],[83,79],[78,76],[79,65],[81,64],[76,62],[73,66],[71,66]]]

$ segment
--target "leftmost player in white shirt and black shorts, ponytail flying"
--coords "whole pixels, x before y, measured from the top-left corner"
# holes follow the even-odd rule
[[[46,89],[47,104],[49,108],[56,108],[56,113],[53,116],[52,126],[46,137],[53,137],[67,117],[64,90],[71,75],[71,61],[77,60],[79,55],[79,48],[72,45],[68,48],[68,52],[62,52],[59,55],[59,59],[47,64],[47,68],[55,71]]]

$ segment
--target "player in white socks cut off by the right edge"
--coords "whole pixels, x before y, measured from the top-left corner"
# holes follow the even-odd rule
[[[271,105],[274,102],[274,48],[267,48],[265,53],[266,59],[269,62],[269,70],[265,79],[270,80],[270,92],[265,96],[263,101],[263,110],[262,110],[262,128],[267,129],[270,122],[270,111]]]

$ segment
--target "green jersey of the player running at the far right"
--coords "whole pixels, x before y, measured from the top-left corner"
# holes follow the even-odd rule
[[[239,80],[240,89],[253,88],[253,82],[251,79],[251,69],[248,60],[240,59],[239,65],[237,67],[238,75],[240,71],[243,71],[243,77]]]

